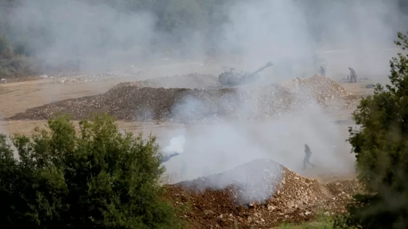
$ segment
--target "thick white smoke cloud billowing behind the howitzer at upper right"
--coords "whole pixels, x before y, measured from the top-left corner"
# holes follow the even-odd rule
[[[381,49],[393,47],[396,32],[406,30],[397,1],[263,0],[239,2],[228,12],[222,46],[243,50],[249,68],[274,62],[266,72],[277,80],[313,71],[317,50],[329,63],[329,75],[347,74],[352,66],[360,76],[384,76],[399,50]]]

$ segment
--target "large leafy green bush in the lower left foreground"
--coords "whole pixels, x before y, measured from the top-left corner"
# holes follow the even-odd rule
[[[163,198],[155,137],[121,134],[107,115],[48,121],[49,130],[0,135],[4,228],[182,228]]]

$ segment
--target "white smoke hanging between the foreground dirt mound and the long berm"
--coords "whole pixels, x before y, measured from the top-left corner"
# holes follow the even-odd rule
[[[175,112],[188,119],[189,112],[195,110],[197,104],[191,100],[186,99]],[[248,119],[256,116],[257,109],[253,106],[256,100],[257,97],[253,97],[253,100],[241,104],[237,111],[239,115]],[[234,101],[223,102],[227,106]],[[307,107],[300,104],[289,113],[262,121],[225,122],[214,116],[206,118],[209,123],[205,125],[186,126],[168,133],[168,137],[185,136],[186,146],[183,155],[166,163],[167,173],[174,171],[180,175],[184,161],[188,167],[182,180],[190,180],[209,175],[206,171],[222,173],[261,158],[272,159],[303,173],[304,144],[312,149],[311,161],[316,164],[316,170],[330,173],[352,171],[353,157],[348,155],[350,148],[345,143],[346,136],[340,133],[334,119],[326,115],[317,103]],[[231,181],[224,180],[225,184],[219,182],[214,187],[225,187]]]

